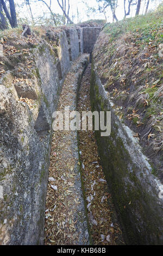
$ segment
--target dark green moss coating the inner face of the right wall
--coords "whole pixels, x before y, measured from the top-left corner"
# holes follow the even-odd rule
[[[101,95],[97,90],[96,73],[93,69],[92,63],[91,106],[92,111],[101,111],[103,105],[99,104]],[[104,107],[107,107],[105,103]],[[128,109],[128,111],[132,111],[132,109]],[[155,197],[142,187],[139,177],[140,175],[143,177],[143,170],[131,159],[122,139],[117,136],[119,127],[115,124],[116,117],[112,117],[112,120],[114,122],[112,123],[111,135],[101,137],[101,131],[96,131],[96,138],[104,174],[118,217],[123,225],[126,242],[131,245],[159,244],[160,231],[156,227],[159,227],[160,220],[158,220],[154,209]],[[137,121],[134,119],[135,124]],[[141,225],[139,218],[143,220],[143,225]],[[153,222],[152,220],[156,221]],[[152,236],[148,234],[152,234]]]

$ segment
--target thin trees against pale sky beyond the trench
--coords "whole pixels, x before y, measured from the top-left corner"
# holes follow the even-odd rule
[[[133,15],[146,14],[152,2],[159,3],[161,1],[92,0],[89,2],[82,0],[84,8],[80,9],[78,5],[74,8],[73,0],[0,0],[0,29],[15,28],[17,24],[22,23],[28,23],[29,25],[66,25],[66,23],[74,23],[74,20],[81,22],[84,13],[86,13],[87,19],[93,19],[92,15],[99,14],[102,16],[100,19],[104,18],[106,22],[108,19],[111,22],[116,22]],[[81,1],[78,3],[80,4]],[[39,6],[39,10],[37,10],[37,6]]]

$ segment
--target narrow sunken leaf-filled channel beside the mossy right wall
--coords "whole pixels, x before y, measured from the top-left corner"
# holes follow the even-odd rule
[[[80,86],[78,111],[91,111],[91,64],[86,69]],[[114,205],[108,193],[105,176],[96,144],[94,131],[79,131],[80,160],[85,187],[86,203],[92,240],[95,245],[123,244],[122,232],[117,224]]]

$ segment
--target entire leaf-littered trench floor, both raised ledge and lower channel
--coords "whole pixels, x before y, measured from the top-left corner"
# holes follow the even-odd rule
[[[80,85],[77,110],[81,114],[82,111],[91,111],[90,78],[91,64]],[[73,82],[73,75],[69,72],[62,88],[58,110],[71,105],[71,95],[75,96],[71,87]],[[71,131],[53,132],[45,212],[45,245],[123,245],[122,231],[100,164],[95,132],[78,131],[80,173],[75,170],[77,159],[71,152],[71,136]],[[80,208],[83,194],[76,187],[80,178],[86,217]]]

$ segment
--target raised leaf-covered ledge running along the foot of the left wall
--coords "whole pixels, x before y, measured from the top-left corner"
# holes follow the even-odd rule
[[[78,79],[88,54],[83,54],[68,72],[58,104],[76,110]],[[89,234],[80,181],[77,131],[55,131],[52,138],[47,189],[45,244],[87,245]]]

